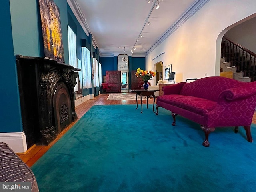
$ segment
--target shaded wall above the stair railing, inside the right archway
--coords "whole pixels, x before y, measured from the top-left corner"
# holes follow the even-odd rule
[[[256,17],[230,29],[225,36],[256,53]]]

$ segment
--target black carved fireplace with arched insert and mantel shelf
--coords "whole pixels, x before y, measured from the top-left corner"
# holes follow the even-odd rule
[[[77,119],[74,86],[78,71],[46,57],[16,55],[23,130],[28,148],[48,145]]]

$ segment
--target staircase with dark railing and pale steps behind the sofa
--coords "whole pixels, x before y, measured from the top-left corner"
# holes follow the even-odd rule
[[[223,37],[221,44],[220,76],[242,82],[256,81],[256,54]]]

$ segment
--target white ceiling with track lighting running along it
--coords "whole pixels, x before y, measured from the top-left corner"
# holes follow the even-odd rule
[[[133,48],[134,55],[145,56],[208,1],[163,0],[157,10],[147,0],[68,0],[68,4],[86,33],[92,34],[100,56],[131,55]],[[137,41],[140,32],[143,37]]]

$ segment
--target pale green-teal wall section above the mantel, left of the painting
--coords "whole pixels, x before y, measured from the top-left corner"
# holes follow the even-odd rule
[[[44,52],[40,50],[42,35],[41,30],[39,30],[41,23],[40,20],[38,21],[38,1],[10,0],[10,10],[14,54],[34,57],[44,56],[42,55]]]

